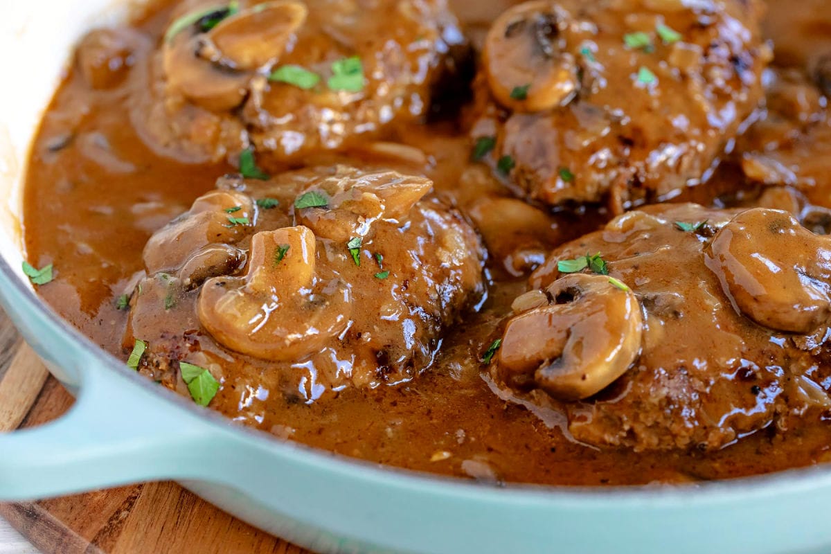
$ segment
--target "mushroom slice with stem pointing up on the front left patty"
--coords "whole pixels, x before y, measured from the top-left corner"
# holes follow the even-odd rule
[[[257,233],[248,273],[214,277],[199,294],[199,321],[227,348],[265,360],[300,360],[346,329],[349,289],[315,272],[316,241],[306,227]]]

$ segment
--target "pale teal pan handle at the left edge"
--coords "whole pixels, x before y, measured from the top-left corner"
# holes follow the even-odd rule
[[[0,500],[62,496],[127,483],[205,478],[223,433],[193,410],[93,362],[70,411],[0,434]],[[207,458],[206,458],[207,457]]]

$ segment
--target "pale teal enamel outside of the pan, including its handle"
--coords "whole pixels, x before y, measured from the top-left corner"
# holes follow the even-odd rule
[[[0,499],[175,478],[318,552],[831,552],[831,472],[654,488],[495,488],[380,468],[238,427],[127,370],[0,262],[0,302],[78,401],[0,434]]]

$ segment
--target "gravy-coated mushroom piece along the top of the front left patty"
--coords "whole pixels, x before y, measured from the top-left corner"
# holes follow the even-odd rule
[[[296,209],[297,223],[336,242],[364,237],[376,220],[406,216],[432,187],[430,179],[396,171],[339,169],[335,175],[312,182],[297,197],[317,192],[327,199],[325,208]]]

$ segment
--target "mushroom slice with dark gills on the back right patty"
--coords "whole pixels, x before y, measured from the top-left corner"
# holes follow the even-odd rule
[[[484,43],[490,91],[514,111],[551,110],[578,91],[578,66],[566,51],[568,12],[556,2],[525,2],[504,12]]]

